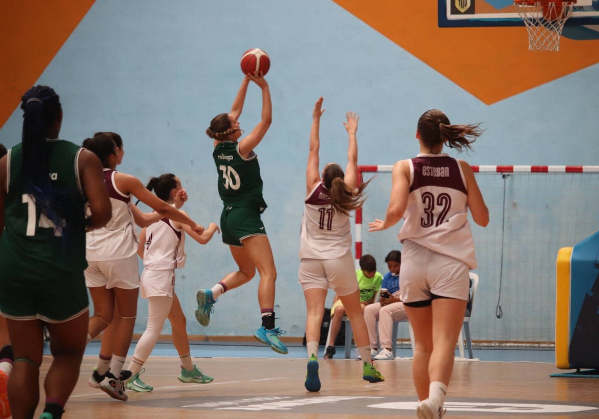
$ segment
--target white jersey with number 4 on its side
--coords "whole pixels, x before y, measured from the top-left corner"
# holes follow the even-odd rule
[[[173,221],[162,218],[146,227],[144,266],[153,271],[177,269],[185,266],[185,232]]]

